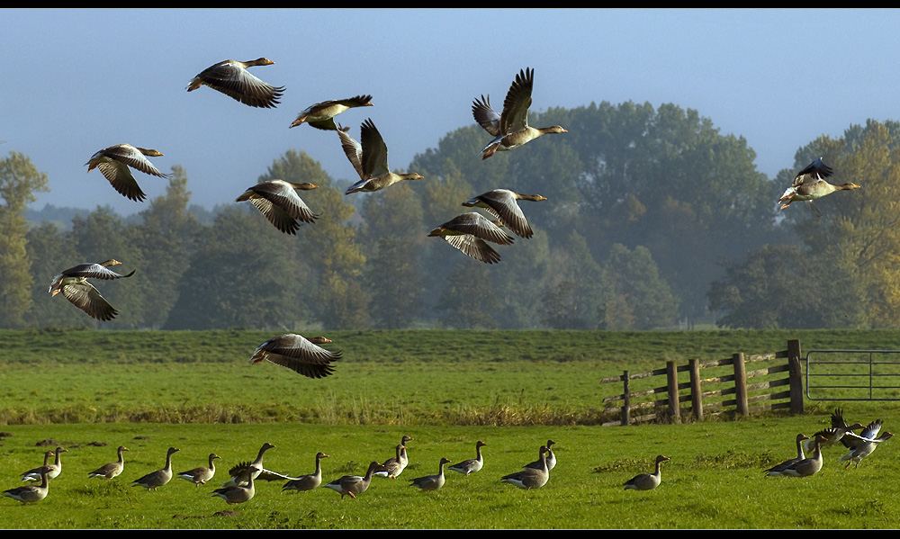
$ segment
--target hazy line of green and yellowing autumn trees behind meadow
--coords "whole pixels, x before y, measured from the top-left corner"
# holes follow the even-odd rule
[[[733,328],[893,327],[900,320],[898,124],[867,121],[820,137],[770,179],[747,141],[673,104],[591,103],[536,121],[568,133],[482,161],[479,126],[448,133],[410,163],[424,176],[345,195],[291,150],[260,181],[303,192],[320,214],[296,236],[247,203],[195,211],[189,171],[123,218],[108,208],[68,226],[25,219],[47,178],[27,156],[0,160],[0,326],[103,328]],[[776,201],[815,157],[862,189]],[[348,171],[350,172],[350,171]],[[428,231],[496,188],[521,202],[532,238],[500,263],[464,256]],[[53,275],[116,258],[128,279],[98,283],[120,311],[98,322],[61,298]]]

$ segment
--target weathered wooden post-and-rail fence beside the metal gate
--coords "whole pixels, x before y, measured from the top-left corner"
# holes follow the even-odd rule
[[[747,371],[748,365],[755,367],[757,363],[761,364],[760,368]],[[689,373],[688,382],[680,382],[680,373]],[[783,373],[788,373],[787,378],[773,379]],[[701,375],[707,377],[701,378]],[[646,382],[645,379],[656,386],[654,382],[662,376],[665,376],[664,386],[632,389],[633,382]],[[759,382],[748,383],[758,379]],[[618,415],[617,420],[604,422],[604,426],[647,421],[680,423],[682,413],[689,413],[694,420],[701,421],[707,415],[750,416],[773,409],[789,409],[791,413],[803,413],[804,410],[798,340],[789,340],[788,348],[779,352],[746,356],[738,353],[727,359],[704,363],[691,359],[681,366],[669,361],[664,369],[637,374],[626,371],[621,376],[600,382],[624,385],[621,394],[603,399],[605,414]],[[779,389],[781,391],[777,391]],[[662,398],[657,398],[660,395]],[[682,410],[682,404],[686,405],[685,410]]]

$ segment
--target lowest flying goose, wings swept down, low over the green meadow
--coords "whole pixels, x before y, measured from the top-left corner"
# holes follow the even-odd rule
[[[257,346],[257,350],[250,357],[250,363],[257,364],[266,360],[307,378],[324,378],[334,373],[331,362],[338,361],[342,354],[340,350],[331,352],[318,346],[330,342],[325,337],[306,338],[285,333]]]

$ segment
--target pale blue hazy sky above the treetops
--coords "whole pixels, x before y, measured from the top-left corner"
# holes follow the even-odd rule
[[[336,179],[355,173],[334,132],[289,129],[311,103],[372,94],[390,165],[473,125],[471,103],[500,106],[534,67],[533,110],[592,102],[675,103],[743,136],[770,177],[797,148],[872,118],[900,120],[896,10],[33,10],[4,9],[0,156],[18,151],[49,176],[45,203],[93,210],[131,202],[85,162],[121,142],[183,166],[192,202],[233,202],[294,148]],[[257,109],[191,78],[223,59],[284,85]],[[485,133],[485,143],[489,137]],[[549,141],[552,143],[553,141]],[[473,148],[479,159],[481,148]],[[507,158],[498,155],[491,158]],[[166,181],[135,173],[148,200]]]

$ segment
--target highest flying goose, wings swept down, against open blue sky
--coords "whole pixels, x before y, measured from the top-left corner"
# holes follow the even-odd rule
[[[193,92],[200,86],[207,85],[251,107],[274,108],[284,93],[284,86],[275,87],[266,84],[247,71],[247,67],[271,66],[274,63],[268,58],[257,58],[248,62],[224,60],[194,76],[191,84],[187,86],[187,91]]]

